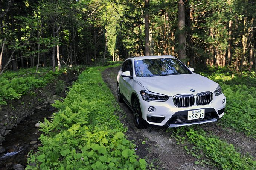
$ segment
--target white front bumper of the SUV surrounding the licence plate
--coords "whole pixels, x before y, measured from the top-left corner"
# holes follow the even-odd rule
[[[225,102],[222,103],[222,100]],[[142,110],[143,123],[147,126],[162,126],[162,127],[180,127],[190,126],[193,124],[203,124],[215,122],[224,115],[226,105],[226,97],[224,94],[214,96],[212,103],[208,105],[198,106],[194,104],[191,107],[176,107],[172,97],[166,102],[146,102],[140,99]],[[153,106],[153,112],[148,111],[148,107]],[[205,118],[196,120],[187,120],[187,111],[205,109]]]

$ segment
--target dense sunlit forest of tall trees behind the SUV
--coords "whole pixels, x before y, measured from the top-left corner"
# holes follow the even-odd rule
[[[0,71],[173,55],[256,70],[254,0],[0,0]]]

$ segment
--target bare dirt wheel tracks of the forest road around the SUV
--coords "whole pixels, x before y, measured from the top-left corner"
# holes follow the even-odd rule
[[[107,68],[102,77],[110,87],[117,99],[116,76],[120,67]],[[125,103],[120,103],[120,121],[128,128],[127,137],[134,140],[137,146],[137,154],[140,158],[145,158],[149,164],[153,164],[156,169],[216,169],[210,165],[197,165],[194,162],[197,158],[187,153],[184,145],[177,144],[174,137],[171,137],[172,130],[166,131],[164,128],[147,127],[137,129],[133,122],[133,113]],[[256,140],[247,137],[241,132],[233,129],[222,128],[219,123],[203,124],[201,127],[208,132],[233,144],[242,155],[250,154],[256,157]]]

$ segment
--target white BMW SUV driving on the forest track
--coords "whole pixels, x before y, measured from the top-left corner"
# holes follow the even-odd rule
[[[173,56],[128,58],[117,75],[118,100],[133,110],[139,129],[217,121],[226,97],[218,83],[193,71]]]

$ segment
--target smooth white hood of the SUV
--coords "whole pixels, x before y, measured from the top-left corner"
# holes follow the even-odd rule
[[[180,74],[156,77],[136,77],[148,91],[175,96],[177,94],[193,94],[215,91],[218,83],[198,74]],[[194,89],[192,92],[190,89]]]

